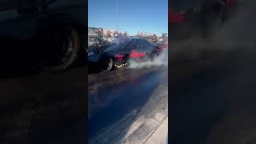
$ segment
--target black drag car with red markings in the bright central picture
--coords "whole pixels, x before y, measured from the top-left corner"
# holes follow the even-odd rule
[[[129,60],[144,62],[158,55],[158,46],[143,38],[117,38],[110,45],[88,51],[89,70],[110,71]]]

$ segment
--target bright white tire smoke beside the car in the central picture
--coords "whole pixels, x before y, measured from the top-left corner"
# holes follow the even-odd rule
[[[135,62],[134,60],[129,60],[128,63],[128,68],[130,69],[151,68],[152,66],[168,66],[168,50],[159,53],[158,57],[155,57],[152,61]]]

